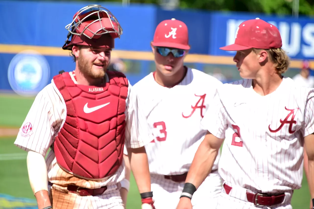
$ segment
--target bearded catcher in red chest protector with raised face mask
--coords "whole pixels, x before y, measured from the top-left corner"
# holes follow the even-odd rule
[[[66,28],[62,48],[71,51],[75,70],[54,76],[38,93],[14,142],[28,151],[38,208],[123,209],[125,143],[142,208],[152,209],[143,106],[124,74],[106,72],[122,28],[100,5],[80,9]]]

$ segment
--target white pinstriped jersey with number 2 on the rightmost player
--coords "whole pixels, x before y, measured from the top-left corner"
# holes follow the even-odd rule
[[[314,89],[283,78],[266,96],[252,79],[223,84],[202,120],[225,138],[219,174],[232,185],[262,192],[295,190],[303,175],[303,137],[314,132]]]

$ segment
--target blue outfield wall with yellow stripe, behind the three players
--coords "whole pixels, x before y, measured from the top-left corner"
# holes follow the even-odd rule
[[[0,18],[3,20],[0,22],[0,89],[36,93],[60,70],[73,70],[72,58],[68,51],[61,48],[68,34],[65,26],[72,21],[75,12],[88,4],[90,2],[0,1]],[[301,59],[314,60],[314,19],[311,18],[198,10],[167,11],[141,4],[100,4],[108,8],[122,26],[123,34],[121,39],[116,39],[113,57],[120,57],[127,63],[126,74],[131,84],[154,70],[150,41],[157,24],[171,18],[187,24],[191,50],[186,62],[204,72],[220,67],[223,73],[231,73],[231,79],[239,78],[236,70],[233,72],[234,52],[222,51],[219,47],[233,43],[236,29],[242,21],[256,17],[279,28],[283,48],[293,59],[292,68],[299,68]],[[22,15],[13,15],[13,8],[14,11],[23,11]],[[19,54],[29,49],[39,55],[33,56],[33,52]],[[314,68],[313,61],[311,67]]]

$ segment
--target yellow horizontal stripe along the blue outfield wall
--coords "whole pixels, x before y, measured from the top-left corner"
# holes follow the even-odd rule
[[[30,46],[30,45],[11,45],[0,44],[0,53],[17,54],[24,50],[34,50],[41,55],[46,56],[69,56],[68,50],[63,50],[62,47],[52,46]],[[153,61],[154,56],[152,52],[148,51],[127,51],[127,50],[113,50],[111,57],[119,57],[121,59],[130,60],[148,60]],[[188,54],[184,60],[187,63],[203,63],[203,64],[221,64],[221,65],[235,65],[233,56],[213,56],[204,54]],[[300,68],[302,60],[291,60],[291,68]],[[314,61],[310,62],[311,69],[314,69]]]

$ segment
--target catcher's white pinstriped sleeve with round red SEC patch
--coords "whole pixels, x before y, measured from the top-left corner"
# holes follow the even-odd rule
[[[44,88],[37,94],[14,142],[15,146],[44,157],[52,144],[52,136],[58,130],[51,93]]]

